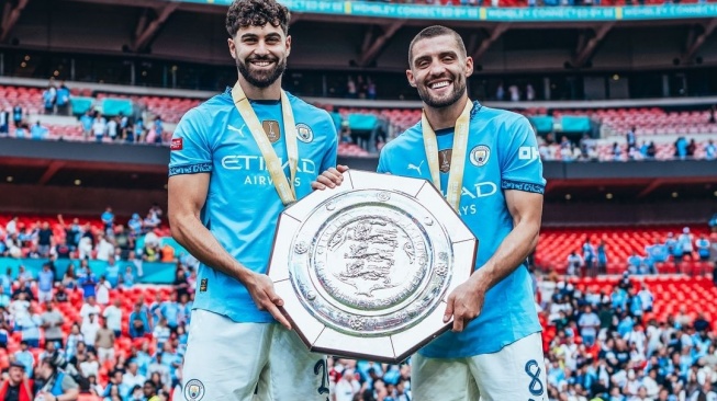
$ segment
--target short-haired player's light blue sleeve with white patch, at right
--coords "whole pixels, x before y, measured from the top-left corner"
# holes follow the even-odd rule
[[[538,141],[527,118],[520,116],[508,126],[508,133],[501,138],[501,187],[536,194],[545,193],[542,161],[538,153]]]

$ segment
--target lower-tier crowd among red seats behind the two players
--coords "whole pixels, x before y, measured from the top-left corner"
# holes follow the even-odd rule
[[[0,394],[3,386],[47,391],[47,371],[58,364],[68,391],[76,389],[81,400],[168,400],[180,389],[197,260],[167,252],[177,266],[170,287],[134,283],[142,262],[161,259],[163,250],[137,256],[133,241],[166,233],[161,216],[154,206],[146,218],[135,214],[124,225],[108,208],[94,228],[63,216],[53,225],[26,227],[12,218],[0,227],[3,242],[11,241],[3,254],[47,261],[36,274],[23,267],[0,274]],[[660,272],[661,261],[717,259],[716,239],[692,231],[656,239],[645,254],[623,261],[618,282],[603,275],[615,253],[590,240],[569,257],[565,276],[533,270],[551,401],[717,399],[717,306],[699,309],[698,302],[717,296],[717,287],[704,278],[681,277],[684,287],[656,284],[677,279]],[[56,264],[66,257],[79,259],[72,261],[78,267],[59,277]],[[107,261],[108,270],[98,277],[87,257]],[[668,289],[699,298],[670,299]],[[410,362],[329,357],[332,400],[411,400]]]

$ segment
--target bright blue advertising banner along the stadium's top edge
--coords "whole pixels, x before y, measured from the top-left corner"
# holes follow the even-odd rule
[[[177,0],[166,0],[177,1]],[[180,0],[229,5],[233,0]],[[422,4],[386,4],[368,1],[279,0],[292,12],[356,15],[383,19],[455,20],[486,22],[571,22],[671,20],[717,16],[717,3],[628,7],[488,8]]]

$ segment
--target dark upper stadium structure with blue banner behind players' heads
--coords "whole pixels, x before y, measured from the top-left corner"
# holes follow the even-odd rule
[[[282,0],[292,11],[299,59],[290,67],[402,70],[411,37],[440,23],[461,33],[483,70],[717,65],[717,4],[479,8],[367,1]],[[229,0],[15,0],[0,46],[51,51],[137,54],[227,62],[223,16]],[[71,23],[70,23],[71,22]],[[42,25],[48,25],[43,27]],[[91,32],[91,35],[88,35]],[[320,42],[321,45],[315,42]],[[626,60],[621,47],[635,53]],[[658,53],[660,62],[642,57]],[[326,51],[333,57],[321,57]],[[531,53],[533,51],[533,53]],[[595,57],[606,53],[613,57]],[[619,55],[618,55],[619,53]],[[520,55],[518,55],[520,54]],[[515,55],[515,56],[514,56]],[[554,55],[552,57],[551,55]],[[545,58],[531,66],[529,60]],[[554,58],[554,60],[552,58]],[[501,58],[508,61],[498,62]],[[548,61],[548,59],[550,60]],[[596,58],[595,60],[593,60]],[[675,61],[676,60],[676,61]],[[293,64],[293,65],[292,65]],[[494,66],[495,65],[495,66]]]

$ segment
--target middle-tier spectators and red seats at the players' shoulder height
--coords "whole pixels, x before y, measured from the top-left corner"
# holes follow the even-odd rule
[[[347,98],[374,99],[376,91],[376,84],[368,76],[347,78]],[[199,102],[189,99],[117,95],[117,99],[136,104],[137,111],[126,115],[123,112],[107,115],[90,107],[77,115],[77,123],[68,126],[44,124],[42,114],[31,113],[33,110],[58,115],[74,113],[71,108],[68,111],[67,102],[63,100],[68,96],[71,99],[74,92],[82,93],[81,90],[69,91],[64,82],[56,85],[54,81],[43,91],[0,87],[0,94],[8,95],[4,101],[0,100],[0,104],[7,106],[4,112],[0,112],[0,137],[167,146],[173,125],[187,110]],[[97,99],[110,96],[99,93]],[[511,84],[507,90],[498,85],[495,96],[496,100],[530,101],[535,99],[535,89],[529,84],[525,88]],[[42,107],[29,110],[27,102],[42,103]],[[332,112],[340,136],[339,154],[349,157],[376,156],[386,141],[421,119],[421,110],[417,108],[320,106]],[[717,157],[713,137],[717,134],[715,107],[686,112],[670,112],[659,107],[583,111],[526,108],[515,112],[529,118],[553,118],[557,127],[563,116],[584,116],[601,127],[602,134],[596,135],[560,129],[545,131],[536,126],[540,156],[546,161],[714,160]],[[161,117],[164,114],[170,118],[165,121]],[[351,121],[360,119],[354,119],[355,116],[374,116],[377,123],[373,131],[357,135]]]

